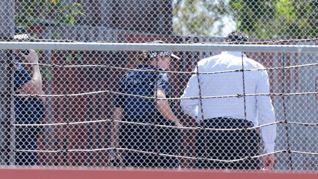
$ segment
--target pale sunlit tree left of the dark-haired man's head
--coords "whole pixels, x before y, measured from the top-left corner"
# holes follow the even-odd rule
[[[174,0],[173,32],[181,36],[220,35],[227,10],[226,0]]]

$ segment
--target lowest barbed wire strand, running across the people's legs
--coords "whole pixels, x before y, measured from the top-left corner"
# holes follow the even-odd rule
[[[295,154],[307,154],[307,155],[318,155],[318,153],[314,152],[303,152],[303,151],[292,151],[292,150],[279,150],[268,154],[262,154],[258,156],[247,156],[243,158],[233,159],[233,160],[220,160],[220,159],[214,159],[214,158],[206,158],[206,157],[188,157],[188,156],[178,156],[178,155],[169,155],[169,154],[162,154],[157,152],[147,152],[147,151],[141,151],[141,150],[135,150],[135,149],[127,149],[127,148],[100,148],[100,149],[59,149],[59,150],[13,150],[15,152],[47,152],[47,153],[64,153],[64,152],[95,152],[95,151],[109,151],[109,150],[117,150],[117,151],[131,151],[131,152],[138,152],[138,153],[144,153],[149,155],[157,155],[157,156],[164,156],[164,157],[176,157],[176,158],[187,158],[187,159],[199,159],[199,160],[208,160],[208,161],[219,161],[219,162],[236,162],[236,161],[242,161],[247,160],[251,158],[259,158],[259,157],[265,157],[273,154],[278,153],[295,153]]]

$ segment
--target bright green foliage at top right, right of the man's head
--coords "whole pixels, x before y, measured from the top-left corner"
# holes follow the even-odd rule
[[[230,0],[237,28],[259,39],[318,36],[317,0]]]

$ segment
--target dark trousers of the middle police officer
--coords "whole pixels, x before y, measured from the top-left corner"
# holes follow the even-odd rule
[[[125,121],[136,121],[124,119]],[[140,122],[140,121],[136,121]],[[172,124],[166,124],[172,125]],[[145,152],[178,155],[179,132],[173,128],[159,128],[138,124],[121,124],[119,147]],[[135,151],[121,152],[123,165],[135,168],[177,168],[179,160],[176,157],[163,157]]]

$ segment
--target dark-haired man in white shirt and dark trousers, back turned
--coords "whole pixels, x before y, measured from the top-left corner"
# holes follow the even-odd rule
[[[226,42],[239,44],[248,41],[248,36],[239,31],[228,34]],[[222,52],[198,62],[201,72],[264,68],[261,64],[247,58],[243,52]],[[197,68],[194,70],[197,72]],[[200,89],[199,89],[200,83]],[[266,70],[226,72],[215,74],[194,74],[189,79],[182,97],[200,96],[239,97],[200,98],[181,100],[182,110],[196,118],[200,127],[236,129],[249,128],[275,121],[273,105],[268,95],[242,96],[244,94],[269,93],[269,80]],[[201,106],[202,105],[202,106]],[[274,152],[276,125],[261,128],[265,153]],[[197,134],[197,157],[233,160],[259,155],[259,134],[256,130],[211,131],[200,130]],[[273,154],[263,157],[264,169],[271,170],[274,165]],[[258,158],[247,158],[239,162],[211,162],[198,159],[198,168],[258,169]]]

